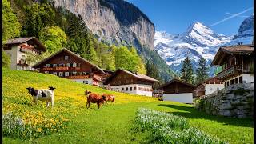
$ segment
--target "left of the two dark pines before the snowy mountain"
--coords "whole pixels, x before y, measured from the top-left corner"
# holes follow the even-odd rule
[[[185,80],[186,82],[194,83],[194,76],[193,76],[193,68],[190,61],[190,58],[186,57],[183,61],[182,69],[181,69],[181,79]]]

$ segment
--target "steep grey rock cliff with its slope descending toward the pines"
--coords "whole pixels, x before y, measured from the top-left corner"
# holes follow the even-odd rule
[[[135,46],[144,62],[158,67],[164,81],[174,75],[166,62],[154,51],[154,24],[136,6],[123,0],[54,0],[74,14],[80,14],[99,41]]]

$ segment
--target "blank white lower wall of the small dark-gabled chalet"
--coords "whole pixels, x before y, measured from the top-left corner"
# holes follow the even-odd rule
[[[164,101],[193,103],[193,94],[192,93],[163,94],[162,98]]]

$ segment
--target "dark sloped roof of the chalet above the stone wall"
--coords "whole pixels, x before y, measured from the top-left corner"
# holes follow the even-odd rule
[[[235,46],[222,46],[218,49],[218,52],[215,54],[213,61],[210,66],[218,65],[222,60],[221,57],[224,57],[225,54],[250,54],[254,52],[254,45],[235,45]]]

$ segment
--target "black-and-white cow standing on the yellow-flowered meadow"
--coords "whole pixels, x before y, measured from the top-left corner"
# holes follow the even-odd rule
[[[38,100],[40,101],[46,101],[46,106],[49,107],[49,104],[51,103],[51,107],[54,107],[54,87],[49,86],[49,90],[47,89],[41,89],[41,90],[35,90],[33,87],[26,88],[28,90],[28,93],[32,95],[33,101],[35,104],[38,103]]]

